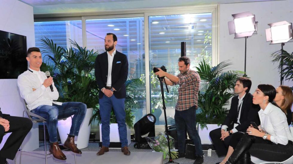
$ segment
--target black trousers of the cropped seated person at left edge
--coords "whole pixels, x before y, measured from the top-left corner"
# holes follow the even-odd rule
[[[22,141],[32,128],[33,123],[30,119],[25,117],[6,116],[4,119],[9,121],[10,129],[5,132],[4,127],[0,125],[0,142],[5,133],[12,133],[1,149],[0,157],[13,160]]]

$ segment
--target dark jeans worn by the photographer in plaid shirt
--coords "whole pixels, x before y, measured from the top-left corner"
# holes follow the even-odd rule
[[[196,129],[196,109],[191,107],[184,111],[175,110],[175,125],[178,138],[178,151],[185,152],[185,126],[190,138],[193,139],[196,155],[202,156],[202,142]]]

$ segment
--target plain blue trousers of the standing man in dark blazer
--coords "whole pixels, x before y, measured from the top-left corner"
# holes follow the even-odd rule
[[[114,95],[109,98],[103,95],[103,97],[99,99],[102,123],[102,146],[109,147],[110,145],[110,115],[112,107],[114,108],[118,123],[121,147],[128,146],[124,100],[124,98],[116,98]]]

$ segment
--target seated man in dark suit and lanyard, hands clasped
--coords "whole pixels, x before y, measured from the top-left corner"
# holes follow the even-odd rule
[[[252,95],[249,92],[251,80],[246,77],[237,79],[234,96],[231,100],[231,108],[221,128],[210,131],[210,138],[219,157],[225,156],[231,136],[236,132],[246,132],[250,122],[260,124],[259,106],[252,103]]]

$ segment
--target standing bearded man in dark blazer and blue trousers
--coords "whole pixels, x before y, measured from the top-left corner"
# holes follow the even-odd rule
[[[109,151],[110,144],[110,114],[114,109],[121,142],[121,151],[125,155],[130,155],[128,150],[127,131],[125,123],[126,97],[125,82],[128,75],[127,56],[116,50],[117,36],[107,33],[105,37],[106,52],[96,58],[95,76],[100,89],[99,104],[102,123],[102,148],[97,155],[102,155]]]

